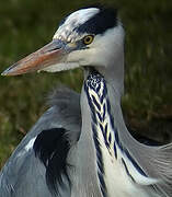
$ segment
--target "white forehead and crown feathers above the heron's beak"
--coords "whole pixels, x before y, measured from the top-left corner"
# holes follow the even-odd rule
[[[71,42],[78,36],[77,32],[73,30],[85,23],[90,20],[93,15],[99,13],[100,10],[98,8],[89,8],[89,9],[81,9],[73,13],[71,13],[65,21],[65,23],[58,27],[57,32],[54,35],[54,38],[65,39]]]

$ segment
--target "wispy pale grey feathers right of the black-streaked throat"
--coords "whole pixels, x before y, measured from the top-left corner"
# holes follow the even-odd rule
[[[121,138],[127,144],[135,161],[139,163],[148,177],[157,179],[152,183],[153,192],[158,196],[171,197],[172,196],[172,143],[167,146],[145,146],[136,141],[129,132],[122,129]],[[145,187],[145,186],[144,186]],[[145,189],[149,189],[145,187]],[[154,193],[153,193],[154,194]],[[150,196],[153,196],[150,195]]]

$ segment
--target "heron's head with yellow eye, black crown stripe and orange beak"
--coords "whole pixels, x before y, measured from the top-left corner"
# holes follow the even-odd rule
[[[84,8],[62,20],[53,40],[18,61],[3,76],[78,67],[107,68],[123,50],[124,31],[115,10]]]

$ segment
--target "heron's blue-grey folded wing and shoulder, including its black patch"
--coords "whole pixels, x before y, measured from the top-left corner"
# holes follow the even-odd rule
[[[70,196],[70,181],[62,162],[80,136],[79,100],[79,94],[69,89],[59,89],[51,95],[51,107],[2,169],[0,197]]]

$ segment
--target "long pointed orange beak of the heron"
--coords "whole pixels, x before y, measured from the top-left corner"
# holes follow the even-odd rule
[[[43,48],[9,67],[1,76],[18,76],[56,65],[60,62],[67,54],[64,46],[65,44],[61,40],[54,39]]]

